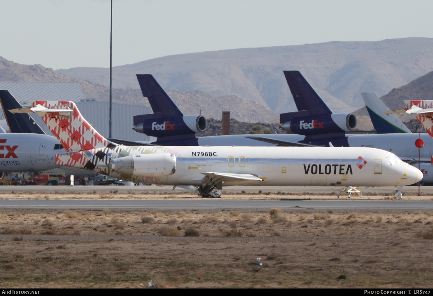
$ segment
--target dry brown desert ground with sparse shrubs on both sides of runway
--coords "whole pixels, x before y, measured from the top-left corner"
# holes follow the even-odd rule
[[[1,198],[197,198],[118,188],[9,188],[1,191]],[[247,191],[226,192],[223,198],[336,198],[335,192]],[[394,196],[367,193],[363,198]],[[404,198],[431,196],[426,192]],[[431,288],[432,226],[433,209],[87,211],[0,206],[0,283],[2,288],[149,288],[149,283],[150,288]],[[261,266],[254,263],[257,258]]]

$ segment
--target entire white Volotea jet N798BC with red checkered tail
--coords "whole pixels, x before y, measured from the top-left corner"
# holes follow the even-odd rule
[[[418,182],[421,172],[395,154],[374,148],[126,146],[100,135],[68,101],[35,101],[67,153],[56,164],[141,183],[193,186],[220,196],[223,186],[398,186]]]

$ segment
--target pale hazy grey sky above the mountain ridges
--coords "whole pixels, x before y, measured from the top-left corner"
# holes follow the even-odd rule
[[[110,66],[110,0],[0,0],[0,56]],[[165,55],[328,41],[433,38],[433,1],[113,0],[113,66]]]

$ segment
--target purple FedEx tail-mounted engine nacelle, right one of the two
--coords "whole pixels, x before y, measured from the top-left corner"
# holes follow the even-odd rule
[[[296,117],[284,122],[281,129],[298,135],[320,135],[349,132],[356,127],[356,116],[352,113],[332,113],[317,116]]]

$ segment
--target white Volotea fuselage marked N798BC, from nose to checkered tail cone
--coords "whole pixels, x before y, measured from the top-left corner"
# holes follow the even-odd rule
[[[81,158],[80,155],[81,154]],[[125,157],[153,157],[174,154],[175,170],[152,174],[152,165],[139,170],[122,164],[127,174],[116,172]],[[152,156],[153,155],[153,156]],[[122,180],[167,185],[202,185],[204,175],[233,174],[223,180],[232,185],[316,185],[316,186],[396,186],[419,181],[422,173],[389,151],[348,147],[201,147],[201,146],[123,146],[97,148],[58,155],[58,164],[69,163]],[[72,160],[74,159],[74,160]],[[149,158],[150,159],[150,158]],[[75,163],[76,162],[76,163]],[[151,162],[146,160],[146,165]],[[114,165],[116,163],[116,165]],[[90,165],[89,165],[90,164]],[[155,158],[154,167],[162,167]],[[147,170],[147,171],[146,171]],[[148,173],[149,172],[149,173]],[[248,174],[261,180],[240,180]]]

